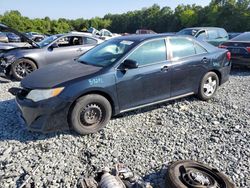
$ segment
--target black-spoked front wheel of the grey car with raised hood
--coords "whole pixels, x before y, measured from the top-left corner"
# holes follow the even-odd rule
[[[11,65],[12,76],[20,81],[37,69],[36,64],[29,59],[18,59]]]

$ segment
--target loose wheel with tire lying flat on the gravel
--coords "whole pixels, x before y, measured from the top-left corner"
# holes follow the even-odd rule
[[[236,188],[221,172],[194,161],[178,161],[169,166],[166,188]]]

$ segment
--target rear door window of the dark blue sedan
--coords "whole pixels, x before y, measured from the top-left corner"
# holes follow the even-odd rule
[[[187,38],[170,38],[169,41],[174,59],[180,59],[196,54],[192,40]]]

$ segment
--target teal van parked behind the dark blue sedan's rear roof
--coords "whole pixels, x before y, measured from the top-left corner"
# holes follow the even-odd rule
[[[179,35],[191,35],[199,40],[206,41],[214,46],[219,46],[221,43],[229,39],[228,33],[223,28],[218,27],[193,27],[179,31]]]

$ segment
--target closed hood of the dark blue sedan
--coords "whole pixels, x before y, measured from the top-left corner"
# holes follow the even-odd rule
[[[21,86],[27,89],[55,88],[68,81],[94,74],[101,69],[102,67],[75,61],[56,63],[29,74],[22,80]]]

